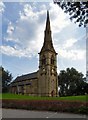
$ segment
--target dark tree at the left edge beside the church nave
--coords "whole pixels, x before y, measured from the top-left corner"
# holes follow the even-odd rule
[[[2,79],[2,92],[8,92],[9,83],[12,80],[12,74],[3,67],[0,67],[0,78]]]

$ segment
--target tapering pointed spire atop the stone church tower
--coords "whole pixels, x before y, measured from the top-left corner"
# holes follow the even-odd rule
[[[53,43],[52,43],[49,11],[47,11],[46,27],[44,31],[44,43],[43,43],[43,47],[40,53],[45,52],[45,51],[51,51],[51,52],[56,53],[53,47]]]

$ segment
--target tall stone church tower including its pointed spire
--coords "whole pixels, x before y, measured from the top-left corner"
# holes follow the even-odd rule
[[[57,53],[53,47],[49,11],[47,11],[44,43],[39,53],[39,96],[58,96]]]

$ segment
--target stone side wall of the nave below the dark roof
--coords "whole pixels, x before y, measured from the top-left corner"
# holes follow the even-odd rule
[[[37,95],[38,79],[16,82],[10,86],[10,92],[15,94]]]

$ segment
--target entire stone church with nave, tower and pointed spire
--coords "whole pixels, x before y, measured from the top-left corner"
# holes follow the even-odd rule
[[[53,47],[49,11],[47,11],[44,43],[39,54],[39,69],[18,76],[10,84],[10,92],[31,96],[58,96],[57,53]]]

